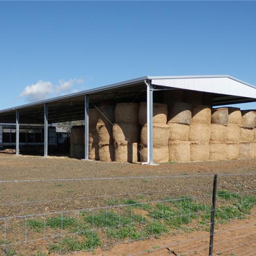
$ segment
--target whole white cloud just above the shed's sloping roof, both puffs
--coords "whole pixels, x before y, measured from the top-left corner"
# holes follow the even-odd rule
[[[64,95],[70,92],[74,84],[82,84],[83,79],[72,78],[68,81],[59,80],[58,85],[53,86],[50,81],[39,80],[35,84],[27,86],[19,97],[24,97],[28,102],[46,99],[50,96]],[[74,89],[73,91],[79,91]]]

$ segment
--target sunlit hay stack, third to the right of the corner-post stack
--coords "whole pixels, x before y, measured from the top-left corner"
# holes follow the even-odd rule
[[[212,109],[210,124],[209,160],[227,159],[228,109]]]

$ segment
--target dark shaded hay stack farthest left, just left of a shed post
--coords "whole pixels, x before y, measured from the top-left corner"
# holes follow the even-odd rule
[[[70,134],[70,157],[84,158],[84,126],[72,126]]]

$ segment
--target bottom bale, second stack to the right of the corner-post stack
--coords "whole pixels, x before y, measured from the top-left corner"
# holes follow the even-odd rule
[[[190,161],[203,162],[209,160],[209,143],[191,142]]]

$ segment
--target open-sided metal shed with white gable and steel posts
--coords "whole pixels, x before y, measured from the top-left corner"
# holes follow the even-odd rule
[[[0,111],[0,123],[16,123],[16,154],[19,148],[19,124],[45,125],[45,150],[48,155],[48,123],[84,119],[84,159],[89,155],[89,108],[100,102],[147,102],[147,162],[153,163],[153,95],[159,91],[177,89],[211,94],[212,105],[256,101],[256,88],[228,75],[212,76],[144,76],[78,93],[16,106]],[[156,98],[157,100],[157,98]],[[155,100],[154,100],[155,101]]]

